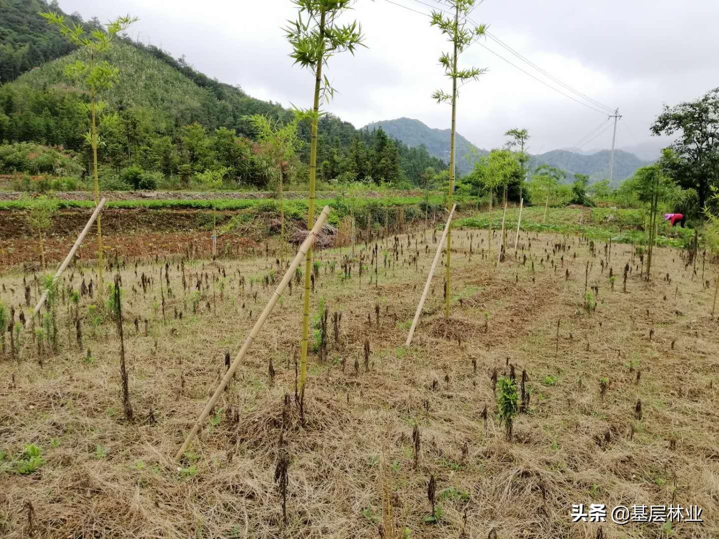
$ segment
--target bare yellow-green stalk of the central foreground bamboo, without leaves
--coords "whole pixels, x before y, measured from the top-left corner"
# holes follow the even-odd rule
[[[324,61],[324,29],[326,22],[326,8],[323,6],[320,13],[319,21],[319,42],[321,50],[315,68],[315,90],[314,101],[312,105],[312,140],[310,144],[310,171],[309,171],[309,201],[307,205],[307,229],[313,228],[314,222],[314,204],[315,204],[315,180],[317,174],[317,123],[319,121],[319,93],[322,83],[322,62]],[[299,392],[300,402],[304,400],[305,380],[307,378],[307,346],[309,338],[310,324],[310,292],[311,292],[311,275],[312,275],[312,246],[308,247],[307,257],[305,259],[305,294],[303,297],[302,310],[302,344],[300,354],[300,379]]]

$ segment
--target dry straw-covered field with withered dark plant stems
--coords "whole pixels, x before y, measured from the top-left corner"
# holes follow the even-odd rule
[[[348,247],[319,253],[312,311],[324,301],[326,357],[311,354],[304,421],[293,282],[180,463],[175,451],[226,352],[234,357],[280,280],[278,254],[120,259],[132,421],[94,268],[61,280],[57,351],[29,328],[23,280],[34,305],[41,277],[4,273],[0,299],[15,321],[23,306],[28,328],[19,343],[5,333],[0,354],[0,535],[718,538],[719,323],[706,286],[715,265],[700,257],[695,275],[678,249],[656,249],[645,282],[630,245],[592,252],[578,236],[534,233],[496,264],[498,236],[487,257],[486,231],[456,229],[452,316],[438,269],[406,347],[439,236],[379,239],[374,263],[374,244],[358,245],[351,275]],[[75,307],[83,280],[93,296]],[[492,378],[512,372],[529,402],[508,441]],[[426,522],[431,477],[436,522]],[[698,505],[703,522],[573,523],[580,503]]]

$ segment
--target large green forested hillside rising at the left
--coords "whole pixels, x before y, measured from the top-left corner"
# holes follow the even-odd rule
[[[64,70],[81,52],[66,54],[73,47],[65,45],[57,29],[38,14],[47,9],[62,14],[55,2],[0,0],[0,58],[17,60],[7,64],[14,67],[4,75],[4,80],[12,82],[0,86],[0,142],[38,142],[86,152],[86,117],[77,105],[87,96],[68,80]],[[83,22],[79,14],[70,20],[86,29],[99,24],[96,19]],[[41,55],[32,52],[33,43],[41,47]],[[152,45],[117,40],[104,59],[119,68],[119,82],[102,96],[110,110],[119,113],[119,124],[104,135],[101,164],[118,173],[134,165],[165,175],[177,175],[189,165],[193,173],[200,173],[212,166],[210,155],[219,156],[209,152],[200,159],[197,152],[188,149],[191,144],[218,147],[221,143],[215,132],[226,128],[244,139],[245,142],[238,141],[243,151],[252,153],[251,144],[246,142],[255,133],[248,115],[264,114],[283,123],[293,118],[293,111],[279,103],[252,98],[239,86],[209,78],[183,57],[175,59]],[[20,72],[24,73],[18,75]],[[301,124],[299,134],[306,141],[299,152],[301,163],[306,164],[308,126]],[[219,138],[229,136],[224,131]],[[247,160],[253,159],[252,155],[248,159],[225,157],[215,166],[228,167],[229,175],[238,177],[240,169],[249,170]],[[230,162],[232,159],[240,162]],[[416,184],[420,172],[427,167],[444,167],[425,149],[410,148],[381,131],[358,131],[333,114],[322,116],[319,122],[318,166],[321,180],[341,176],[344,180],[410,184]],[[263,180],[260,172],[252,170],[244,178],[254,178],[252,181],[261,185],[266,178]],[[306,175],[303,166],[297,170],[300,176]]]

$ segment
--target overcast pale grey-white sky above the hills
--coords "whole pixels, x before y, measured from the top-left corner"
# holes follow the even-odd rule
[[[392,1],[425,13],[431,10],[426,4],[444,4]],[[185,55],[203,73],[239,84],[257,98],[311,105],[313,78],[292,65],[281,29],[296,18],[290,0],[60,0],[60,7],[103,22],[129,12],[140,18],[132,37],[175,57]],[[653,142],[649,125],[663,103],[697,98],[719,84],[716,0],[485,0],[471,17],[490,24],[495,37],[547,73],[605,106],[619,107],[618,147]],[[330,60],[326,73],[338,93],[325,108],[357,127],[401,116],[449,127],[449,106],[430,95],[436,88],[451,89],[437,63],[450,49],[428,17],[388,0],[358,0],[348,18],[361,22],[367,48]],[[485,44],[570,93],[497,42]],[[512,127],[529,130],[532,153],[571,147],[606,119],[480,45],[460,57],[460,67],[470,65],[488,72],[462,88],[457,130],[479,147],[499,147]],[[582,149],[608,148],[611,137],[608,129]]]

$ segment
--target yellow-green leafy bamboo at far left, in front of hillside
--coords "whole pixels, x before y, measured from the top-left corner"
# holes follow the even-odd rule
[[[98,116],[106,112],[106,103],[99,100],[99,93],[108,90],[118,78],[118,69],[110,65],[106,60],[101,60],[101,55],[109,49],[114,37],[123,32],[130,24],[137,21],[137,17],[117,17],[114,21],[106,24],[106,30],[94,29],[91,32],[77,23],[69,26],[65,22],[64,15],[53,11],[41,13],[47,22],[57,27],[65,40],[76,47],[81,47],[86,53],[86,61],[77,60],[65,68],[65,74],[70,78],[82,80],[90,96],[90,103],[84,104],[85,111],[90,116],[90,129],[85,135],[87,144],[92,148],[93,155],[93,179],[95,182],[95,205],[100,203],[100,183],[97,173],[97,149],[100,145],[98,132]],[[99,278],[99,290],[104,290],[103,281],[103,250],[102,250],[102,226],[100,216],[97,216],[97,270]]]

